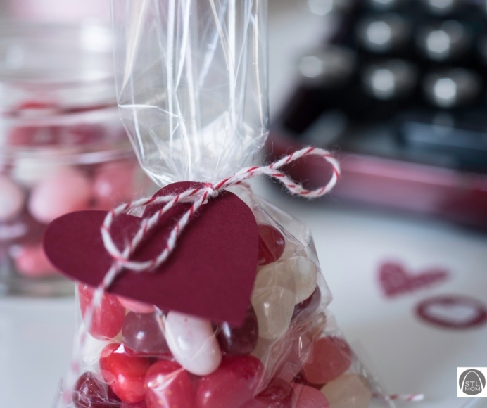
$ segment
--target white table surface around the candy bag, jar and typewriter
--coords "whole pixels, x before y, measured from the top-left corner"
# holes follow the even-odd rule
[[[293,61],[326,29],[304,1],[270,4],[270,96],[276,112],[293,81]],[[435,294],[487,300],[487,235],[440,221],[353,210],[286,197],[268,182],[261,196],[312,226],[334,301],[331,310],[361,357],[372,362],[389,393],[425,393],[417,408],[460,408],[457,366],[487,366],[487,326],[436,329],[415,318],[419,300]],[[380,262],[412,271],[441,265],[450,279],[429,290],[386,300],[377,286]],[[74,298],[0,299],[0,408],[50,407],[65,375],[74,333]],[[400,407],[407,404],[398,404]],[[480,408],[480,407],[479,407]]]

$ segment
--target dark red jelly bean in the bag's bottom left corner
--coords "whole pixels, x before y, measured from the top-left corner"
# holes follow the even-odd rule
[[[96,378],[95,374],[87,371],[77,379],[72,388],[72,403],[76,408],[115,408],[120,406],[116,395],[110,395]]]

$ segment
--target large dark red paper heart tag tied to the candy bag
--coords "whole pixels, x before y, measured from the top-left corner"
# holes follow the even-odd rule
[[[181,193],[201,183],[170,184],[156,196]],[[131,260],[146,261],[165,248],[177,220],[190,208],[184,203],[169,210],[135,251]],[[144,217],[163,207],[150,205]],[[44,249],[66,276],[98,286],[113,262],[101,239],[106,211],[72,212],[55,219],[44,235]],[[123,250],[137,233],[141,218],[120,215],[111,228],[115,245]],[[161,310],[177,310],[213,321],[241,324],[250,302],[258,262],[258,229],[246,203],[229,191],[191,218],[174,252],[152,272],[125,270],[108,291]]]

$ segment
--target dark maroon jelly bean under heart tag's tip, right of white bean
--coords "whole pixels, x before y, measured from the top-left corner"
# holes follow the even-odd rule
[[[257,316],[252,305],[248,305],[245,322],[241,327],[222,323],[217,329],[220,348],[231,355],[248,355],[253,352],[259,338]]]

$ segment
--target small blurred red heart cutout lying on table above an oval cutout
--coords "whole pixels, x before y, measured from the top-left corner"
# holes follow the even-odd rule
[[[426,269],[419,274],[409,274],[401,264],[386,262],[379,270],[379,282],[389,297],[427,288],[444,281],[448,272],[444,269]]]

